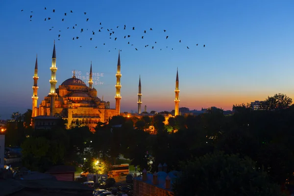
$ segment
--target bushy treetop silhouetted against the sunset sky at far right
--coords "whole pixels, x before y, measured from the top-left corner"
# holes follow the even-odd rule
[[[262,101],[262,108],[266,110],[274,110],[274,109],[284,109],[289,107],[292,104],[292,98],[284,94],[275,94],[272,97],[269,97]]]

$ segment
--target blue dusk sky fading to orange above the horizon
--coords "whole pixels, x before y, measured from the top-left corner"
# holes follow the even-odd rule
[[[122,112],[137,111],[140,74],[142,109],[172,111],[177,67],[180,107],[190,110],[294,98],[293,10],[293,0],[1,0],[0,119],[32,108],[36,54],[38,105],[48,95],[54,39],[56,87],[73,70],[86,76],[92,61],[111,108],[122,50]]]

